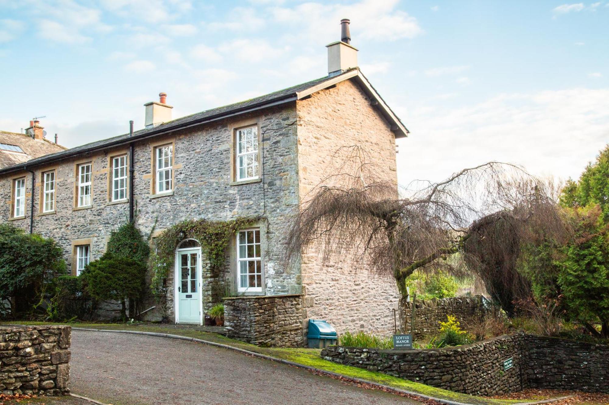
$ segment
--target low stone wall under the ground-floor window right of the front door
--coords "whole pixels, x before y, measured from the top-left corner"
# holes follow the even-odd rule
[[[227,336],[256,345],[301,347],[301,294],[230,297],[224,299]]]

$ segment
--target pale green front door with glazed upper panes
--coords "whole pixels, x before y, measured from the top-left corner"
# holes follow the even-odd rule
[[[178,251],[178,324],[201,322],[200,249]]]

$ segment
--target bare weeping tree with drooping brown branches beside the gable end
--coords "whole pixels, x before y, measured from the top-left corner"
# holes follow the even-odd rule
[[[348,251],[371,272],[392,276],[401,297],[417,269],[448,266],[460,252],[487,291],[513,313],[530,296],[516,271],[519,246],[540,235],[566,237],[554,184],[523,168],[487,162],[402,193],[361,147],[341,148],[342,164],[308,194],[290,221],[286,259],[317,249],[328,264]],[[450,269],[456,271],[456,269]]]

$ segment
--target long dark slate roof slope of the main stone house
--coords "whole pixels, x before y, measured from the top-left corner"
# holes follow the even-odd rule
[[[242,114],[244,112],[253,111],[258,108],[267,108],[272,105],[294,101],[297,99],[298,92],[302,92],[306,89],[313,88],[314,86],[321,85],[325,81],[340,80],[341,76],[345,76],[346,80],[348,77],[352,77],[354,71],[357,70],[357,67],[354,67],[353,69],[345,71],[340,75],[336,75],[333,77],[320,77],[315,80],[301,83],[300,85],[261,95],[260,97],[255,97],[254,99],[245,100],[242,102],[233,103],[213,109],[208,109],[206,111],[197,112],[195,114],[191,114],[185,117],[180,117],[169,122],[162,123],[153,128],[144,128],[143,130],[135,131],[133,132],[133,136],[131,137],[127,133],[107,139],[97,140],[96,142],[91,142],[90,144],[80,145],[78,147],[70,148],[68,150],[63,150],[57,153],[49,154],[47,156],[32,159],[30,161],[27,161],[27,165],[35,166],[47,162],[58,161],[60,159],[65,159],[71,156],[78,156],[80,154],[88,153],[90,151],[126,144],[127,142],[133,142],[139,139],[153,136],[155,134],[166,133],[167,131],[172,130],[179,130],[187,126],[199,125],[200,123],[205,123],[216,119],[224,119],[225,117]],[[376,96],[380,99],[380,95],[378,95],[378,93],[376,94]],[[21,167],[0,167],[0,174],[7,173],[9,171],[20,170]]]

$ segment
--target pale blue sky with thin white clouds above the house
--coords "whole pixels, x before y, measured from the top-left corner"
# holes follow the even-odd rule
[[[398,178],[499,160],[577,177],[609,140],[609,1],[0,0],[2,130],[73,147],[359,65],[411,131]]]

